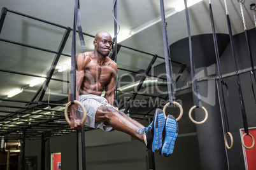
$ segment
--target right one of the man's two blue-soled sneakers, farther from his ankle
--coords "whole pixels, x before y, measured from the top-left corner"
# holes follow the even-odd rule
[[[163,145],[162,145],[162,155],[168,157],[173,154],[174,142],[178,136],[179,126],[173,115],[168,115],[166,118],[166,125],[163,131]]]

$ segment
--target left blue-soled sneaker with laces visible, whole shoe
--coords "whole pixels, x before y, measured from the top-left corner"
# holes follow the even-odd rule
[[[160,108],[157,108],[152,123],[148,127],[137,131],[138,133],[143,131],[144,134],[146,134],[146,147],[155,153],[159,152],[162,147],[162,130],[164,129],[164,123],[164,112]]]

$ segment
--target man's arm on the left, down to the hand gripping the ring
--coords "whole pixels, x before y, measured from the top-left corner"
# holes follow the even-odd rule
[[[78,54],[76,55],[76,98],[75,100],[79,100],[79,91],[82,86],[83,77],[85,74],[85,67],[87,65],[87,58],[85,54]],[[70,101],[70,90],[68,95],[68,101]],[[81,120],[77,118],[77,108],[78,105],[74,104],[69,107],[70,110],[70,121],[69,124],[71,129],[81,129]]]

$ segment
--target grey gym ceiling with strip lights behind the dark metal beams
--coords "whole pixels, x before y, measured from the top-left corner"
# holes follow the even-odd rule
[[[169,44],[173,44],[187,37],[187,23],[185,20],[185,11],[175,12],[174,6],[182,0],[164,1],[166,15],[167,32],[169,36]],[[189,1],[189,0],[188,0]],[[255,0],[245,0],[244,13],[247,29],[255,27],[253,22],[252,10],[250,4]],[[224,0],[212,0],[213,16],[215,18],[215,27],[217,33],[228,34],[227,22],[225,16]],[[74,1],[70,0],[0,0],[0,7],[6,7],[8,10],[18,11],[26,15],[41,18],[48,22],[57,23],[64,27],[73,27]],[[100,30],[106,30],[113,36],[113,1],[97,0],[97,1],[80,1],[82,28],[83,32],[95,35]],[[237,0],[227,0],[227,8],[232,23],[233,34],[243,32],[243,21],[240,13],[240,6]],[[199,34],[211,33],[211,22],[209,15],[208,0],[204,0],[189,8],[190,24],[192,36]],[[118,1],[118,23],[120,24],[120,32],[125,30],[134,31],[144,25],[160,18],[160,5],[158,0],[122,0]],[[45,48],[57,51],[60,41],[65,30],[53,25],[32,20],[24,16],[8,12],[4,20],[3,29],[0,34],[1,39],[20,42],[39,48]],[[93,50],[93,38],[85,36],[87,44],[86,51]],[[77,40],[76,53],[83,52]],[[162,26],[160,22],[134,34],[120,44],[129,46],[134,49],[146,51],[147,53],[164,56],[164,48],[162,42]],[[12,70],[26,74],[34,74],[45,76],[48,67],[52,64],[54,53],[41,51],[38,49],[27,48],[17,44],[0,41],[0,69]],[[64,48],[67,55],[71,55],[71,34]],[[189,56],[187,56],[189,58]],[[118,67],[133,71],[145,70],[150,63],[152,56],[144,55],[130,49],[121,48],[118,53]],[[187,58],[180,58],[180,62]],[[163,63],[164,60],[157,59],[155,66]],[[60,66],[69,66],[70,57],[60,56],[58,62]],[[178,65],[177,65],[178,67]],[[181,66],[179,66],[181,67]],[[118,75],[122,75],[124,70],[118,70]],[[55,72],[53,78],[69,80],[69,71]],[[28,87],[29,82],[35,77],[10,74],[1,72],[0,74],[0,98],[6,98],[11,89],[23,88],[24,91],[19,95],[9,98],[11,100],[30,101],[34,93],[38,90],[39,85]],[[60,101],[66,100],[69,84],[66,82],[50,81],[44,101]],[[50,89],[50,91],[49,91]],[[48,95],[50,93],[50,95]],[[57,93],[54,95],[53,93]],[[25,103],[15,103],[8,101],[0,101],[0,105],[15,105],[24,107]],[[18,108],[2,107],[0,110],[17,111]],[[0,113],[7,115],[7,113]],[[1,119],[1,117],[0,117]]]

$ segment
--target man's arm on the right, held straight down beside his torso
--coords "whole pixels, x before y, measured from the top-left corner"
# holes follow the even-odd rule
[[[111,68],[113,68],[113,73],[111,75],[112,77],[110,82],[105,86],[106,93],[104,97],[108,100],[108,103],[113,106],[115,101],[115,77],[117,76],[117,63],[113,63]]]

